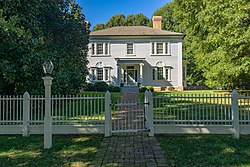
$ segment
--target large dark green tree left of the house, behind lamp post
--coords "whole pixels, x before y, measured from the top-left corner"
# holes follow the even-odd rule
[[[72,94],[87,75],[89,31],[74,0],[0,1],[0,93],[43,93],[42,64],[54,64],[52,91]]]

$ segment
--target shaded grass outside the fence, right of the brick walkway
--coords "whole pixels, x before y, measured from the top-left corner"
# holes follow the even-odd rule
[[[250,166],[250,135],[160,135],[169,166]]]

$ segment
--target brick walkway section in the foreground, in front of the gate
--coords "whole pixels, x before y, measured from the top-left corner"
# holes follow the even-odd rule
[[[144,134],[104,138],[95,159],[95,166],[98,167],[164,167],[166,164],[156,138]]]

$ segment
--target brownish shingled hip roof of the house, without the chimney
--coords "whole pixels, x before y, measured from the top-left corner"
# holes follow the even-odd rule
[[[145,26],[119,26],[104,30],[93,31],[90,33],[92,37],[98,36],[182,36],[185,34],[159,30],[156,28]]]

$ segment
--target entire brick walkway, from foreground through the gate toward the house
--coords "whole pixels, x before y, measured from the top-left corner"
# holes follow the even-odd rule
[[[122,101],[134,101],[138,102],[138,94],[123,94]],[[126,110],[126,111],[125,111]],[[132,106],[123,106],[122,110],[118,109],[118,115],[115,116],[114,120],[123,120],[121,116],[128,117],[127,121],[113,122],[119,125],[119,127],[126,127],[128,122],[132,124],[133,121],[137,122],[135,118],[138,119],[138,114],[144,112],[143,109],[135,109]],[[119,112],[123,111],[123,114],[119,115]],[[126,114],[124,114],[126,113]],[[132,115],[132,116],[131,116]],[[119,119],[117,119],[119,116]],[[121,117],[121,118],[120,118]],[[128,121],[133,118],[133,121]],[[139,124],[141,124],[141,119],[139,119]],[[135,123],[133,123],[135,124]],[[135,125],[136,125],[135,124]],[[137,128],[140,126],[136,126]],[[142,127],[140,127],[142,128]],[[164,167],[166,165],[166,160],[159,143],[155,137],[148,137],[146,132],[140,133],[120,133],[119,135],[112,135],[112,137],[104,138],[100,150],[96,154],[95,166],[97,167]]]

